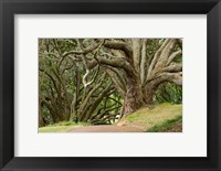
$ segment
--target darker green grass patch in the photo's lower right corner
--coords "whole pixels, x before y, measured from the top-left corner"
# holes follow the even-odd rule
[[[171,130],[178,124],[182,124],[182,116],[178,116],[173,119],[166,120],[165,122],[157,124],[152,128],[146,130],[147,132],[166,132]]]

